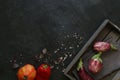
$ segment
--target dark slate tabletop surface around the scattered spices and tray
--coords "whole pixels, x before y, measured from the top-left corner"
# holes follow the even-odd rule
[[[0,79],[16,80],[17,70],[9,61],[18,53],[24,56],[20,66],[37,67],[31,60],[35,54],[46,48],[53,59],[63,55],[54,51],[61,43],[76,46],[79,40],[64,37],[77,33],[83,42],[65,61],[67,67],[106,18],[120,26],[120,0],[0,0]],[[69,80],[53,69],[51,80],[56,79]]]

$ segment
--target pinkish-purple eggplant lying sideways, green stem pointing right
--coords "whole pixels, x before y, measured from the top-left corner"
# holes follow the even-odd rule
[[[93,48],[97,52],[106,52],[110,49],[117,50],[117,48],[115,46],[113,46],[112,44],[110,44],[108,42],[96,42],[94,44]]]

